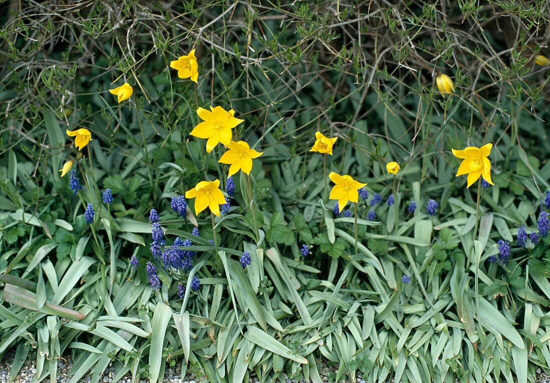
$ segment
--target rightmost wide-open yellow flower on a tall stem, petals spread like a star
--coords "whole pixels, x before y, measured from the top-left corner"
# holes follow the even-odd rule
[[[470,187],[475,181],[483,176],[483,179],[489,184],[494,185],[491,181],[491,163],[489,162],[489,154],[491,154],[492,143],[483,145],[481,148],[475,146],[469,146],[464,150],[453,150],[453,154],[456,158],[463,159],[460,164],[456,176],[468,175],[468,185]]]

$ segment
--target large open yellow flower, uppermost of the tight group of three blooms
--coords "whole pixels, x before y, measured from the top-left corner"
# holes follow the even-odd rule
[[[223,145],[229,145],[233,138],[231,130],[244,121],[233,116],[235,114],[233,109],[228,112],[222,107],[210,107],[210,110],[197,109],[197,114],[204,122],[195,126],[195,129],[191,131],[191,136],[208,138],[206,141],[206,152],[208,153],[212,152],[212,149],[220,142]]]

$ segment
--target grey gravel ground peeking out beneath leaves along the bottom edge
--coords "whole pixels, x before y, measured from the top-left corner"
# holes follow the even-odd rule
[[[12,368],[13,363],[13,353],[6,353],[4,354],[3,360],[0,361],[0,383],[7,383],[10,379],[10,370]],[[57,383],[68,383],[71,376],[69,375],[70,369],[73,367],[73,362],[70,359],[70,357],[60,359],[57,363]],[[323,382],[329,382],[334,383],[331,380],[329,380],[330,376],[334,376],[335,373],[334,369],[331,369],[327,367],[327,365],[322,365],[321,370],[319,371],[321,375],[321,379]],[[35,364],[31,360],[27,360],[23,367],[21,367],[21,370],[19,371],[19,376],[15,378],[14,383],[29,383],[31,379],[36,374],[36,367]],[[131,383],[132,378],[130,375],[123,376],[122,379],[118,380],[117,382],[113,382],[113,377],[116,375],[116,371],[113,367],[109,365],[103,375],[100,378],[100,382],[102,383]],[[550,383],[550,376],[545,375],[540,368],[536,369],[536,383]],[[80,382],[81,383],[88,383],[90,381],[90,376],[85,376]],[[283,379],[287,383],[306,383],[304,379],[290,379],[287,374],[283,374]],[[258,378],[255,376],[252,376],[249,379],[249,383],[256,383],[258,382]],[[50,379],[43,380],[45,383],[51,383]],[[311,381],[307,382],[310,383]],[[149,383],[149,379],[140,379],[139,383]],[[208,383],[207,380],[197,378],[195,374],[187,374],[185,375],[185,378],[182,380],[182,365],[181,363],[178,363],[175,365],[173,369],[167,368],[164,373],[164,379],[163,383]],[[342,380],[339,383],[349,383],[349,381]],[[360,372],[357,372],[355,383],[366,383],[366,380],[362,379],[362,375]],[[388,383],[394,383],[393,379],[389,380]]]

